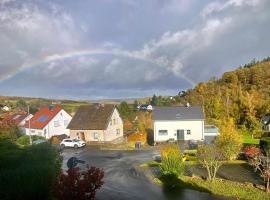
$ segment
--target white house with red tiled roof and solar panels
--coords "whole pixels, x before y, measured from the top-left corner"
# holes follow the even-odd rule
[[[69,136],[67,126],[71,119],[72,117],[59,105],[53,108],[43,107],[34,114],[30,121],[25,122],[25,132],[26,135],[39,135],[46,139],[54,135]]]

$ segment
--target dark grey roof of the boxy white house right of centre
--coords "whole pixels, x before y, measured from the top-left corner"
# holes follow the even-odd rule
[[[202,120],[204,114],[200,106],[174,106],[174,107],[155,107],[153,120]]]

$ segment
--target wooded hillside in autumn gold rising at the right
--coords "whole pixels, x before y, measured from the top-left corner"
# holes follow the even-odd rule
[[[259,130],[261,117],[270,112],[270,58],[199,83],[176,99],[178,103],[203,106],[208,123],[232,118],[238,128]]]

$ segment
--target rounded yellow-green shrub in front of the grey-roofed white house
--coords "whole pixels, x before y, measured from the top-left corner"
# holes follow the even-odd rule
[[[184,173],[185,166],[182,160],[182,154],[176,144],[164,146],[161,151],[162,161],[160,170],[162,175],[177,175],[181,176]]]

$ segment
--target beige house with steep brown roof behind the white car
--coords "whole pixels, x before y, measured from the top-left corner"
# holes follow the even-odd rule
[[[109,142],[123,138],[123,120],[115,105],[81,106],[68,125],[71,138]]]

